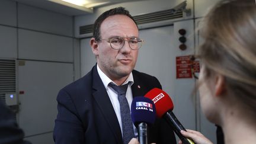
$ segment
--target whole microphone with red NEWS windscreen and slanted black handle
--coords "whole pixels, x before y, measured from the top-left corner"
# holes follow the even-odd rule
[[[172,113],[174,105],[169,95],[162,89],[153,88],[145,97],[151,99],[156,107],[156,116],[163,117],[167,123],[171,125],[172,129],[184,144],[194,144],[193,140],[183,136],[180,131],[185,130],[183,125],[178,121],[177,117]],[[187,130],[185,130],[187,131]]]

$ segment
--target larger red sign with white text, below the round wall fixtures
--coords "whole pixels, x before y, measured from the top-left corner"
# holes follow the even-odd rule
[[[192,78],[190,56],[176,57],[176,78]]]

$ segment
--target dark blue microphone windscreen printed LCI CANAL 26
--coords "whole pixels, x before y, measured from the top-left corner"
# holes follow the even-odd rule
[[[155,104],[149,98],[134,97],[131,105],[131,116],[135,126],[139,123],[153,124],[156,119]]]

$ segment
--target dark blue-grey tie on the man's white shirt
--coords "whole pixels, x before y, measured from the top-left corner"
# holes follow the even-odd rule
[[[129,84],[129,83],[128,83]],[[126,91],[128,84],[117,86],[113,82],[110,82],[109,86],[117,92],[119,103],[120,103],[120,113],[121,122],[123,129],[123,143],[127,144],[130,140],[135,137],[133,132],[132,118],[130,115],[130,107],[126,99]]]

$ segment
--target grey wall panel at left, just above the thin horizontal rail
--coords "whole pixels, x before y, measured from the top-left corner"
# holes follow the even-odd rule
[[[73,40],[69,37],[20,29],[18,58],[73,62]]]

